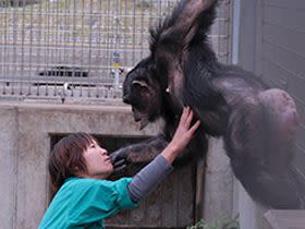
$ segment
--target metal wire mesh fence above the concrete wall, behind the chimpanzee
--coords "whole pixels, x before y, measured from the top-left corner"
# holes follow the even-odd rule
[[[0,0],[0,97],[120,98],[129,69],[148,55],[148,27],[178,0]],[[231,4],[211,43],[230,62]]]

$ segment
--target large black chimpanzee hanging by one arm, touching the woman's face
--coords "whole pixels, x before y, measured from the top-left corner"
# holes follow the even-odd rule
[[[114,161],[156,156],[173,134],[183,106],[200,120],[191,143],[204,154],[207,135],[223,136],[233,172],[257,202],[272,208],[302,208],[300,180],[291,168],[300,117],[288,93],[259,77],[218,62],[207,33],[217,0],[183,0],[171,16],[150,28],[150,55],[127,75],[123,101],[141,129],[162,118],[162,133],[114,152]]]

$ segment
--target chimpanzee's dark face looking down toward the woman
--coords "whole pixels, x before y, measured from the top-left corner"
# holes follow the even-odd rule
[[[147,58],[141,61],[127,75],[123,84],[123,101],[132,106],[139,130],[160,116],[161,93],[154,75],[154,64]]]

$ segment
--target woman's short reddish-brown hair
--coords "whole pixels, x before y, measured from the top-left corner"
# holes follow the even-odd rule
[[[49,158],[49,173],[54,192],[61,188],[65,179],[80,172],[87,172],[83,153],[93,142],[96,140],[90,134],[73,133],[54,145]]]

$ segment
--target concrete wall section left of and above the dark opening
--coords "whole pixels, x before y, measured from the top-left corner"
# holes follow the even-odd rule
[[[49,201],[50,134],[88,132],[151,135],[136,131],[127,107],[0,104],[0,228],[37,228]]]

